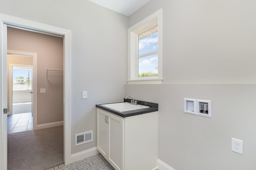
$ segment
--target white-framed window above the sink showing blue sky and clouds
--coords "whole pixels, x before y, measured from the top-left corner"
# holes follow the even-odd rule
[[[162,9],[128,29],[128,84],[162,83]]]

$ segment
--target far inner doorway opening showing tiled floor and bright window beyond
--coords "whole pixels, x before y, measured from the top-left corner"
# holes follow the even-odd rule
[[[33,58],[28,56],[8,55],[8,63],[15,59],[23,59],[33,64]],[[33,66],[24,64],[9,64],[9,112],[7,118],[7,133],[17,133],[33,130]]]

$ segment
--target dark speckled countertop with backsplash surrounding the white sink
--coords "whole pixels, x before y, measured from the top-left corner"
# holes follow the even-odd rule
[[[124,99],[124,102],[130,102],[130,101],[131,101],[130,99]],[[156,103],[144,102],[144,101],[140,101],[140,100],[136,100],[136,101],[140,105],[149,106],[149,107],[144,108],[144,109],[122,111],[122,112],[110,109],[108,107],[104,107],[104,106],[102,106],[102,104],[96,104],[96,107],[103,109],[105,111],[108,111],[110,113],[113,113],[115,115],[121,116],[121,117],[129,117],[129,116],[141,115],[141,114],[145,114],[145,113],[158,111],[158,104],[156,104]],[[121,103],[121,102],[116,102],[116,103]]]

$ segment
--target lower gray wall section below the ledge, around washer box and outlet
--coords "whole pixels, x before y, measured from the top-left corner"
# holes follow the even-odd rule
[[[158,158],[175,170],[255,170],[255,84],[126,85],[159,104]],[[212,118],[183,113],[183,98],[212,101]],[[244,154],[231,151],[231,138]]]

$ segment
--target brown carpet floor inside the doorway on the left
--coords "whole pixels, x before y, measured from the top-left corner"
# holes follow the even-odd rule
[[[8,134],[8,170],[45,170],[64,163],[63,126]]]

